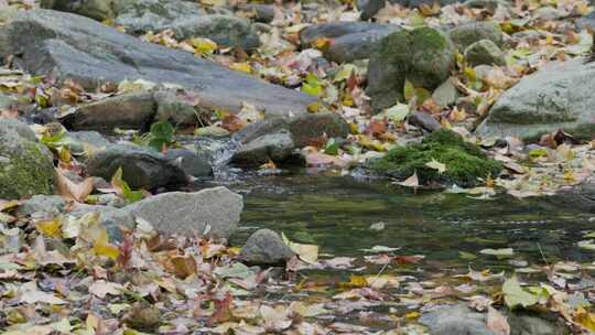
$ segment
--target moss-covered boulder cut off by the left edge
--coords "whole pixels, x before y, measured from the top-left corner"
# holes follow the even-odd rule
[[[54,175],[52,153],[33,131],[17,120],[0,119],[0,198],[52,194]]]

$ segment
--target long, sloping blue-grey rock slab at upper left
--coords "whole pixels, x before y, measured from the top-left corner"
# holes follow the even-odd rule
[[[25,71],[87,89],[104,83],[145,79],[193,90],[201,105],[237,112],[242,102],[267,117],[305,114],[315,99],[224,68],[193,54],[150,44],[76,14],[52,10],[20,12],[0,30],[0,56],[14,55]]]

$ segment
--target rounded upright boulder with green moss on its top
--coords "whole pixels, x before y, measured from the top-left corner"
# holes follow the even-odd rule
[[[439,87],[455,66],[455,52],[448,36],[430,26],[389,34],[370,58],[366,93],[372,107],[380,110],[402,100],[405,79],[429,90]]]

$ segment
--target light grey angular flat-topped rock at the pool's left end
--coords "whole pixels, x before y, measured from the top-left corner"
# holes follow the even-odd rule
[[[130,227],[138,218],[166,234],[209,236],[229,239],[236,231],[244,202],[226,187],[195,193],[162,193],[116,210],[102,213],[104,225]],[[109,229],[113,236],[115,229]]]

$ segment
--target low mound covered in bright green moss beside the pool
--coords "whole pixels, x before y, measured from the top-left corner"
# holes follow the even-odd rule
[[[436,160],[446,165],[442,174],[425,164]],[[466,142],[450,130],[437,130],[421,143],[409,144],[390,150],[383,158],[372,162],[370,169],[398,180],[418,174],[420,185],[452,185],[473,187],[480,184],[479,179],[497,176],[502,166],[488,159],[475,144]]]

